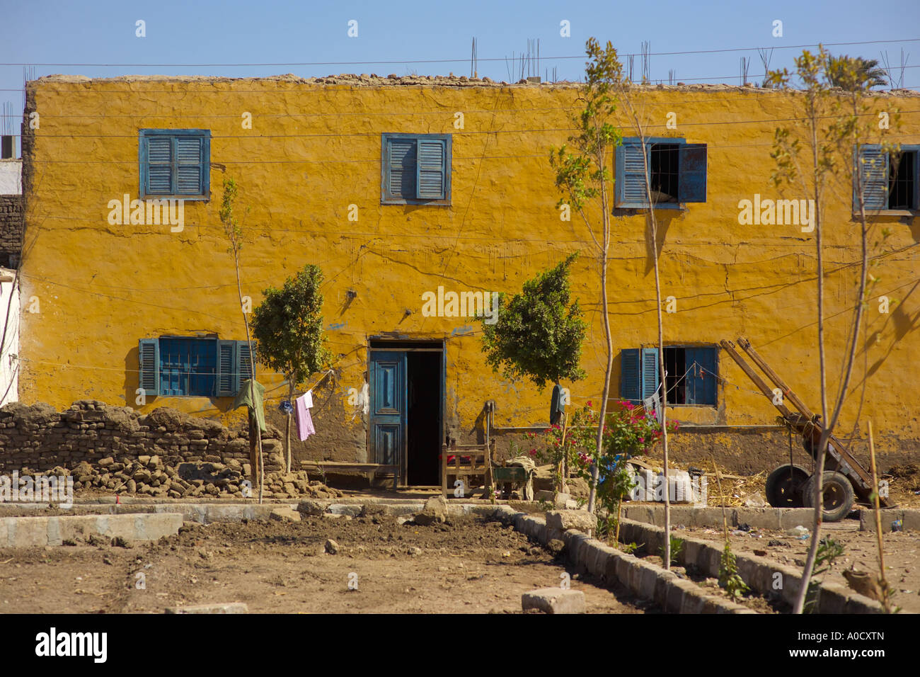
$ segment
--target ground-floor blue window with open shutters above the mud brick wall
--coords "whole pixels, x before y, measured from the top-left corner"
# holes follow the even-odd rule
[[[138,346],[145,395],[233,397],[252,375],[246,341],[161,336]]]

